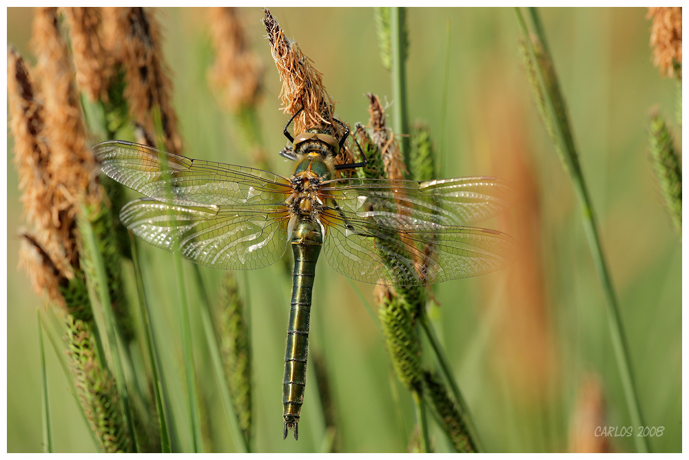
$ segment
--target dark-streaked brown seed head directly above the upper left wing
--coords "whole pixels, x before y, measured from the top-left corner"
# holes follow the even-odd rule
[[[125,99],[130,117],[143,129],[143,139],[155,139],[154,108],[161,110],[165,146],[181,152],[182,139],[172,107],[172,81],[163,57],[161,27],[144,8],[104,8],[104,36],[117,62],[125,68]]]

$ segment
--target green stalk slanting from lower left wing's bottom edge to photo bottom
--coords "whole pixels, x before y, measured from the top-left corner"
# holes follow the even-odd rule
[[[223,408],[227,415],[229,423],[230,436],[232,437],[232,444],[240,453],[250,453],[251,443],[249,439],[244,436],[242,428],[239,426],[239,417],[232,403],[232,395],[227,387],[227,380],[225,380],[225,370],[223,368],[223,359],[220,357],[220,347],[216,339],[215,329],[213,327],[213,319],[210,311],[210,299],[205,290],[203,279],[201,279],[201,272],[196,264],[193,266],[194,278],[198,286],[203,308],[199,309],[201,322],[203,323],[203,332],[206,337],[206,345],[211,357],[213,371],[218,383],[218,390],[220,391],[220,400],[223,401]]]

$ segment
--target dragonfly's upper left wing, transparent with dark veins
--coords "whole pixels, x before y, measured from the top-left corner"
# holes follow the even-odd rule
[[[272,172],[190,159],[137,143],[105,141],[93,151],[107,176],[164,203],[260,206],[282,203],[291,193],[289,180]]]

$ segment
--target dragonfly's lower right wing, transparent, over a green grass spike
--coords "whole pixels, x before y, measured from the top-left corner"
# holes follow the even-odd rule
[[[331,209],[321,216],[327,228],[326,258],[335,270],[358,281],[440,283],[493,272],[514,259],[515,241],[502,232],[440,226],[376,213],[376,206],[367,209],[359,214]]]

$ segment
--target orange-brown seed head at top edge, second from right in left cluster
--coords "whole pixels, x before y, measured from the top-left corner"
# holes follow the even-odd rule
[[[70,26],[76,84],[92,101],[107,102],[114,59],[105,48],[101,8],[63,8],[63,12]]]

